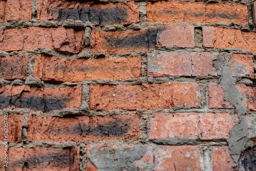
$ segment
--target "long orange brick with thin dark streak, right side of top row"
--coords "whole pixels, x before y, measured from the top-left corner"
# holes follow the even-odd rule
[[[147,3],[147,22],[239,23],[248,25],[247,5],[161,1]]]

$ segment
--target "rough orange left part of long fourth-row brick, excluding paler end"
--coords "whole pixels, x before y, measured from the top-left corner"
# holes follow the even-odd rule
[[[173,82],[136,86],[92,84],[89,108],[94,110],[136,110],[173,108]]]

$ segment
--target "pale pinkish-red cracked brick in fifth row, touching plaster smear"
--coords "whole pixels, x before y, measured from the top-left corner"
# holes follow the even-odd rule
[[[150,139],[227,139],[239,119],[229,113],[153,114],[150,116]]]

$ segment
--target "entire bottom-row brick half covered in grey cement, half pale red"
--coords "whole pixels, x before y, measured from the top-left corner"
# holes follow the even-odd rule
[[[100,146],[87,148],[86,170],[200,170],[199,146]]]

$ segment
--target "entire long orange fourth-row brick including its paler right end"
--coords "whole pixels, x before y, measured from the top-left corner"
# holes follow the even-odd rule
[[[173,108],[186,104],[198,105],[198,84],[193,82],[166,82],[142,86],[108,86],[93,84],[90,90],[90,109],[136,110]],[[183,98],[183,99],[182,99]]]

